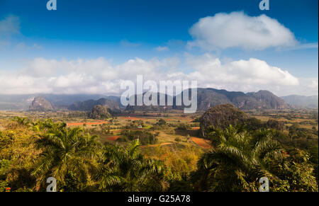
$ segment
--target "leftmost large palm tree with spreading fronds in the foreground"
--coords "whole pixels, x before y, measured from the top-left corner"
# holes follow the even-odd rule
[[[42,150],[32,173],[37,178],[37,186],[43,185],[49,177],[63,184],[69,173],[86,183],[89,169],[94,166],[101,148],[98,136],[85,134],[80,127],[69,129],[61,122],[46,121],[43,127],[47,132],[35,139],[35,145]]]

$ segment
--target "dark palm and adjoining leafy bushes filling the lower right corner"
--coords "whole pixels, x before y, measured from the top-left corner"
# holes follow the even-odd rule
[[[270,131],[252,137],[230,126],[213,138],[217,147],[198,161],[197,190],[257,191],[259,178],[267,177],[272,191],[318,191],[308,156],[298,153],[303,161],[289,161]]]

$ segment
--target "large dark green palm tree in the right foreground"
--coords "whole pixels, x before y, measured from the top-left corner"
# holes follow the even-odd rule
[[[208,191],[255,191],[261,177],[280,181],[285,167],[280,144],[267,130],[256,137],[230,126],[213,134],[217,147],[198,161],[198,188]]]

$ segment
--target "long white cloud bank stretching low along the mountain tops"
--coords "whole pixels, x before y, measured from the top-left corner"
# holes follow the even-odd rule
[[[223,88],[229,91],[258,91],[267,89],[284,96],[298,91],[318,92],[318,79],[299,79],[260,59],[241,59],[222,63],[206,54],[150,60],[135,58],[112,65],[103,57],[97,59],[37,58],[20,71],[0,71],[0,93],[100,93],[121,94],[122,81],[136,81],[142,74],[144,81],[197,80],[199,87]],[[181,65],[191,68],[185,73]],[[306,84],[307,83],[307,84]],[[317,85],[315,87],[315,85]],[[313,94],[313,93],[312,93]],[[310,94],[309,94],[310,95]]]

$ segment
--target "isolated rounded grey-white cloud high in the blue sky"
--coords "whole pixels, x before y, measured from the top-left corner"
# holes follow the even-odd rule
[[[241,47],[264,50],[267,47],[292,47],[295,36],[284,25],[266,15],[247,16],[243,12],[216,13],[199,19],[189,33],[194,38],[189,47],[218,50]]]

